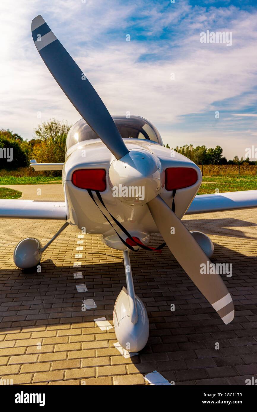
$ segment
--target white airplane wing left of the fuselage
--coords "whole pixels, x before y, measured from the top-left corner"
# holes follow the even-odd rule
[[[0,218],[67,220],[65,202],[0,199]]]

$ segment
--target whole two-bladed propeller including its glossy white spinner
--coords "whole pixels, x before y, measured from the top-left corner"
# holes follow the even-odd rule
[[[138,172],[138,169],[140,169],[135,161],[137,153],[133,155],[133,151],[129,152],[127,150],[123,138],[101,98],[54,33],[52,33],[42,16],[39,15],[33,19],[31,31],[35,45],[45,65],[83,119],[94,130],[97,136],[99,136],[117,160],[127,155],[121,162],[123,163],[122,165],[119,163],[118,165],[116,165],[116,163],[114,164],[113,169],[110,169],[110,175],[112,175],[114,179],[118,173],[119,180],[120,176],[124,174],[121,172],[123,170],[122,167],[126,167],[124,165],[124,161],[126,160],[127,162],[130,161],[128,163],[131,166],[129,174],[134,173],[134,178],[138,178],[138,173],[135,174]],[[140,152],[140,156],[141,153],[142,152]],[[231,295],[218,274],[200,273],[200,265],[205,264],[207,267],[209,260],[191,233],[158,195],[161,189],[161,186],[157,184],[160,176],[158,175],[156,177],[154,175],[152,171],[153,168],[150,173],[147,165],[149,166],[152,161],[156,171],[158,170],[160,172],[161,168],[158,167],[158,160],[150,159],[146,162],[146,157],[146,154],[144,154],[144,157],[140,157],[140,159],[145,159],[146,163],[142,178],[143,180],[147,180],[146,177],[149,177],[150,179],[148,180],[153,180],[153,182],[150,183],[147,180],[148,189],[153,186],[153,184],[156,186],[154,187],[154,191],[151,191],[151,197],[153,196],[153,199],[150,200],[150,197],[150,199],[146,200],[148,201],[147,205],[153,220],[174,257],[200,292],[203,293],[212,307],[214,307],[224,323],[227,324],[231,322],[234,317],[234,306]],[[127,172],[124,176],[126,176],[126,179],[131,177],[128,176]],[[156,181],[154,181],[154,179]],[[124,183],[126,182],[124,181],[123,184]],[[131,182],[131,184],[132,183],[133,182]],[[174,234],[171,234],[170,227],[174,227]]]

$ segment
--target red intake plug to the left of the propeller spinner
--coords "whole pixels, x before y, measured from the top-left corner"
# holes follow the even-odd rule
[[[99,190],[106,189],[106,171],[104,169],[80,169],[73,172],[72,183],[80,189]]]

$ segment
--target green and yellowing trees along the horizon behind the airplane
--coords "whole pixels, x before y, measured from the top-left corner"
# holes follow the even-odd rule
[[[50,119],[42,122],[34,130],[31,140],[25,140],[19,134],[13,133],[9,129],[0,129],[0,148],[12,148],[13,160],[8,162],[3,156],[0,157],[0,169],[14,170],[20,167],[29,166],[31,159],[36,159],[38,163],[62,163],[65,157],[66,137],[71,124],[61,122],[57,119]],[[167,144],[166,147],[170,148]],[[250,159],[241,159],[235,156],[232,160],[224,157],[223,149],[220,146],[207,148],[205,145],[177,146],[173,150],[188,157],[196,164],[256,164]],[[0,152],[2,154],[2,151]]]

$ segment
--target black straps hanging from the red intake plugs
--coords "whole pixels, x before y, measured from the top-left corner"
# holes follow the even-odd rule
[[[99,208],[97,202],[94,200],[92,191],[90,189],[87,190],[88,194],[90,195],[91,199],[94,201],[94,203],[97,205],[97,207]],[[113,219],[113,221],[116,223],[116,225],[122,230],[122,232],[127,236],[128,239],[130,239],[130,241],[132,241],[133,243],[136,243],[136,245],[138,246],[137,249],[134,249],[129,243],[127,243],[124,239],[122,239],[122,237],[118,234],[117,230],[113,227],[112,223],[110,222],[110,220],[107,218],[107,216],[104,214],[104,212],[101,211],[101,209],[99,208],[100,212],[104,215],[104,217],[106,218],[106,220],[108,221],[108,223],[110,223],[111,227],[115,230],[116,234],[118,235],[120,241],[122,241],[122,243],[129,248],[130,250],[132,250],[133,252],[137,252],[139,250],[139,248],[142,248],[144,250],[156,250],[159,251],[159,253],[161,253],[161,249],[164,248],[164,246],[166,245],[166,243],[162,243],[160,246],[158,246],[157,248],[151,248],[149,246],[144,245],[143,243],[141,243],[140,241],[138,241],[135,237],[132,237],[130,235],[130,233],[125,229],[125,227],[123,227],[123,225],[108,211],[108,209],[106,208],[103,199],[101,198],[101,194],[98,190],[95,191],[97,194],[97,197],[99,199],[99,201],[101,202],[102,206],[104,206],[104,208],[106,209],[106,211],[109,213],[109,215],[111,216],[111,218]],[[175,190],[173,191],[173,202],[172,202],[172,210],[173,210],[173,204],[174,204],[174,195],[176,192]],[[174,210],[175,210],[175,204],[174,204]]]

